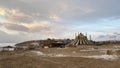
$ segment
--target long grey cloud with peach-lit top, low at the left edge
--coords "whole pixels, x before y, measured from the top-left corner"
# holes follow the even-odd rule
[[[13,31],[22,31],[22,32],[51,32],[51,29],[53,29],[54,25],[52,25],[50,22],[42,21],[39,23],[0,23],[0,26],[5,27],[8,30]]]

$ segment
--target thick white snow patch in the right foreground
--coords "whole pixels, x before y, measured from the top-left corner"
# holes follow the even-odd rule
[[[94,58],[94,59],[104,59],[104,60],[116,60],[118,59],[117,55],[94,55],[94,56],[81,56],[84,58]]]

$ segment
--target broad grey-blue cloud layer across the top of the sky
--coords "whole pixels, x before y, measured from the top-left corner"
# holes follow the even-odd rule
[[[1,0],[1,7],[19,9],[36,20],[50,20],[57,15],[62,19],[79,21],[118,18],[119,0]],[[26,17],[25,17],[26,18]]]

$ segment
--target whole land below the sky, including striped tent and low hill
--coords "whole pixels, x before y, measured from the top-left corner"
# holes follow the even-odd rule
[[[67,44],[67,45],[66,45]],[[120,44],[95,42],[80,33],[74,40],[27,41],[0,52],[0,68],[119,68]],[[8,48],[8,49],[6,49]]]

